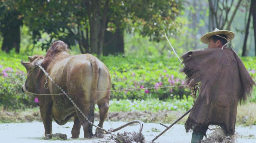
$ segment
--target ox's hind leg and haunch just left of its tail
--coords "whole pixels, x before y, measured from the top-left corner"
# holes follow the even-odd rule
[[[70,95],[77,107],[83,112],[83,114],[89,118],[89,106],[90,106],[90,92],[92,83],[92,72],[89,61],[85,63],[79,63],[75,65],[67,77],[67,90],[68,93],[78,93]],[[92,127],[89,122],[83,117],[78,109],[76,109],[77,117],[80,124],[83,126],[84,137],[89,138],[93,136]],[[89,119],[91,120],[91,119]],[[77,120],[78,122],[78,120]],[[91,120],[93,123],[93,120]],[[75,127],[74,127],[75,128]]]

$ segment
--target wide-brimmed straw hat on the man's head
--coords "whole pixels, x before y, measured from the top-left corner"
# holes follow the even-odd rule
[[[220,35],[222,35],[222,34],[223,34],[223,35],[226,35],[227,38],[220,36]],[[207,34],[204,34],[204,36],[201,37],[201,41],[202,41],[203,43],[205,43],[205,44],[208,44],[208,43],[209,43],[209,38],[210,38],[211,36],[214,36],[214,35],[219,36],[219,37],[221,37],[221,38],[224,38],[224,39],[226,39],[227,41],[231,41],[232,39],[234,39],[234,36],[235,36],[234,32],[232,32],[232,31],[219,30],[219,29],[215,28],[213,32],[209,32],[209,33],[207,33]]]

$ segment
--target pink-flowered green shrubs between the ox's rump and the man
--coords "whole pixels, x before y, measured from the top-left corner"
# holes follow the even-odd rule
[[[109,68],[112,89],[156,88],[135,91],[112,92],[111,98],[117,99],[167,99],[188,96],[185,87],[160,88],[162,86],[185,85],[185,77],[179,70],[182,64],[175,57],[108,56],[100,58]]]

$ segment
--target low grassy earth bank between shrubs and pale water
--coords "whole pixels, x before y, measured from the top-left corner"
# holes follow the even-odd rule
[[[125,104],[124,104],[125,103]],[[149,104],[151,106],[149,106]],[[183,100],[179,104],[186,104],[183,107],[190,108],[191,102]],[[146,123],[173,123],[182,116],[187,109],[175,108],[168,109],[177,105],[172,101],[159,102],[158,100],[149,101],[110,101],[109,118],[111,121],[132,121],[141,120]],[[96,106],[95,106],[96,107]],[[129,108],[128,108],[129,107]],[[184,124],[188,115],[179,124]],[[70,121],[72,121],[71,119]],[[95,120],[99,120],[98,109],[95,111]],[[41,121],[39,107],[17,109],[6,111],[0,108],[0,123],[22,123]],[[238,106],[237,125],[256,125],[256,103],[246,103]]]

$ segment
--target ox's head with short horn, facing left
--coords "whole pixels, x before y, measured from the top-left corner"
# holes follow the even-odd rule
[[[21,64],[27,69],[27,80],[24,85],[22,85],[22,92],[36,92],[36,76],[38,74],[38,67],[36,63],[41,64],[43,62],[43,55],[33,55],[28,56],[29,62],[21,61]]]

